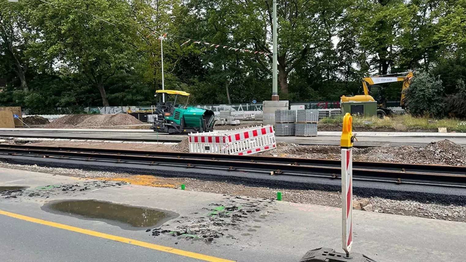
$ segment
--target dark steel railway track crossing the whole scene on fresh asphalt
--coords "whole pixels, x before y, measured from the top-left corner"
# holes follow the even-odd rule
[[[341,162],[328,159],[297,159],[263,156],[233,156],[182,152],[146,152],[73,147],[0,145],[0,156],[48,158],[54,161],[80,160],[118,164],[168,165],[222,171],[243,171],[275,176],[340,179]],[[355,180],[395,184],[466,188],[466,167],[384,162],[353,162]]]

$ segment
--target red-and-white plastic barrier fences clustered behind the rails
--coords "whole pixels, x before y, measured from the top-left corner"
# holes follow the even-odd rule
[[[272,125],[189,134],[189,152],[250,155],[276,148]]]

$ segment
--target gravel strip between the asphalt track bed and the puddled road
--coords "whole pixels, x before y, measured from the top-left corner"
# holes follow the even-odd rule
[[[1,162],[0,167],[89,179],[108,178],[116,181],[118,178],[124,178],[124,181],[126,182],[130,181],[131,178],[138,177],[137,175],[131,175],[127,173],[85,171],[81,169],[52,168],[41,167],[37,165],[13,165]],[[289,202],[329,207],[340,207],[341,203],[341,195],[338,192],[252,187],[232,184],[228,182],[205,181],[183,177],[164,178],[154,176],[154,180],[156,180],[159,184],[175,185],[176,188],[179,188],[181,184],[185,184],[186,190],[219,193],[231,196],[248,196],[258,199],[275,199],[277,191],[280,191],[282,192],[283,200]],[[159,185],[148,184],[147,186]],[[361,198],[355,196],[355,200],[361,200]],[[378,197],[370,198],[368,200],[372,212],[466,222],[466,203],[464,206],[448,206],[435,203],[421,203],[410,200],[390,200]]]

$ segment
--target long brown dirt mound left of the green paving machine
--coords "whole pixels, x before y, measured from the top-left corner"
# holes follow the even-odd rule
[[[115,115],[68,115],[61,117],[46,128],[86,128],[100,126],[117,126],[117,125],[137,125],[144,124],[135,117],[128,114]]]

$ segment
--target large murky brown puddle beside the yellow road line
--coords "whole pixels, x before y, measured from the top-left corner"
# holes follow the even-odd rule
[[[179,216],[168,210],[126,206],[98,200],[58,200],[48,202],[41,208],[50,213],[104,221],[130,230],[157,227]]]

